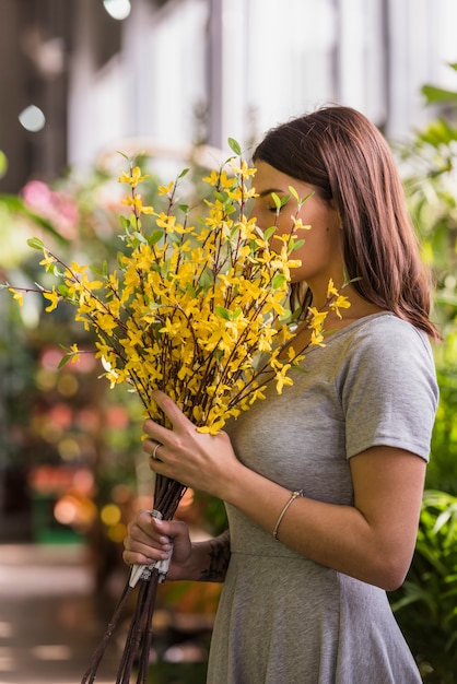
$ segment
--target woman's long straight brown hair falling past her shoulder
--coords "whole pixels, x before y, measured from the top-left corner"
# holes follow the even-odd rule
[[[339,212],[344,267],[348,279],[359,279],[353,286],[362,297],[441,339],[430,320],[430,272],[390,148],[366,117],[324,107],[268,131],[257,160],[314,186]]]

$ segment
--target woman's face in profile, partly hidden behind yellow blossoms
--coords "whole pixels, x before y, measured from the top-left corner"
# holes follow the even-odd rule
[[[251,211],[256,216],[260,228],[266,229],[276,225],[274,235],[290,234],[293,228],[291,216],[301,219],[302,224],[310,226],[309,229],[300,229],[297,239],[304,239],[305,244],[293,252],[293,259],[300,259],[302,266],[291,270],[292,282],[306,281],[314,296],[318,290],[327,292],[330,278],[337,286],[341,286],[343,278],[342,259],[342,229],[338,212],[330,204],[320,199],[313,186],[296,180],[277,170],[266,162],[259,160],[256,163],[257,173],[254,186],[258,197]],[[289,188],[296,190],[298,198],[305,198],[313,193],[297,212],[297,201],[291,194]],[[282,207],[277,216],[277,207],[271,193],[283,199],[290,199]],[[273,249],[280,249],[281,243],[271,238]]]

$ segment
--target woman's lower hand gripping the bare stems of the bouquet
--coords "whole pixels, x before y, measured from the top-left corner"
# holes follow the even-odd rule
[[[128,524],[122,558],[127,565],[150,565],[172,555],[167,579],[190,579],[192,545],[185,522],[157,520],[148,510],[140,510]]]

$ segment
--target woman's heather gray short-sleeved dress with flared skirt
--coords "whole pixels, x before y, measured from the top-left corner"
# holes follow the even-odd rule
[[[310,347],[293,387],[233,422],[238,458],[291,491],[353,504],[349,459],[375,445],[429,458],[437,387],[429,341],[390,314]],[[303,557],[232,506],[231,561],[209,684],[417,684],[385,591]]]

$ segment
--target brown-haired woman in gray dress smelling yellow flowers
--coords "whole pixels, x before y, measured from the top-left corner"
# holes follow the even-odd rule
[[[224,581],[211,684],[412,684],[421,681],[386,590],[401,585],[418,529],[437,387],[430,283],[388,145],[361,114],[327,107],[269,131],[254,155],[258,224],[276,203],[309,224],[292,295],[326,309],[329,280],[351,306],[328,310],[281,396],[202,435],[172,400],[143,448],[151,469],[225,502],[230,533],[191,543],[178,521],[142,511],[127,563],[167,558],[168,579]],[[291,196],[277,220],[289,232]],[[297,328],[302,349],[309,331]]]

